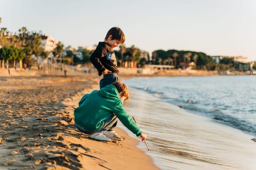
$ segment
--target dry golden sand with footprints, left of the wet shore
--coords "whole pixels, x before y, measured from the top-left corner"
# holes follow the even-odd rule
[[[98,79],[0,77],[1,170],[157,170],[121,129],[123,141],[90,139],[74,126],[74,108]]]

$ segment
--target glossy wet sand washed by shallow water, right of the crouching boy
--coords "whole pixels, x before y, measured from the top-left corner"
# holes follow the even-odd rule
[[[163,170],[254,170],[253,136],[133,89],[127,112],[148,133],[149,155]],[[155,108],[155,109],[154,109]],[[170,114],[171,113],[171,114]],[[155,127],[158,127],[156,129]],[[143,143],[139,148],[146,150]]]

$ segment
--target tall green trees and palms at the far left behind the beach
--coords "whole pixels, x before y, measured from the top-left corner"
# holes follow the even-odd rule
[[[0,18],[1,23],[1,18]],[[33,64],[32,56],[36,57],[36,64],[39,64],[39,56],[45,59],[49,56],[49,51],[44,51],[41,47],[41,34],[30,32],[26,27],[22,27],[14,35],[10,34],[7,28],[0,29],[0,67],[16,67],[16,62],[20,61],[20,66],[30,67]],[[59,42],[52,51],[56,56],[60,56],[64,45]],[[22,64],[24,63],[24,65]]]

